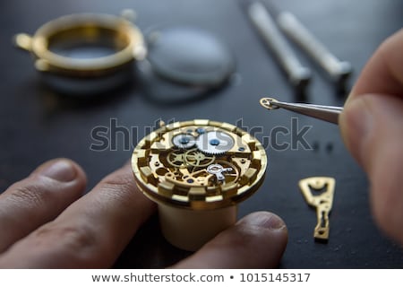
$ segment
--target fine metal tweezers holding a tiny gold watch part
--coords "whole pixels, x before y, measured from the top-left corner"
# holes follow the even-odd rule
[[[338,125],[339,115],[343,110],[343,107],[322,106],[305,103],[290,103],[275,100],[272,98],[262,98],[261,105],[266,109],[288,109],[298,114],[303,114],[309,117],[315,117],[327,122]]]

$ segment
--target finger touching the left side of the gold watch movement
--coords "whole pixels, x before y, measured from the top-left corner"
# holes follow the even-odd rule
[[[102,179],[55,221],[13,245],[0,265],[11,268],[99,268],[112,265],[155,210],[129,164]]]

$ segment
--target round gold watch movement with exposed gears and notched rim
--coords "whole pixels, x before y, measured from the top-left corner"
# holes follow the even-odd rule
[[[159,204],[191,210],[235,205],[262,185],[267,157],[244,130],[195,119],[161,126],[132,158],[141,191]]]

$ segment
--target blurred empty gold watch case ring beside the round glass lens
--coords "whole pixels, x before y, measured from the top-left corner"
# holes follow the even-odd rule
[[[17,47],[30,51],[35,67],[40,72],[74,77],[94,77],[112,74],[135,60],[146,57],[144,39],[129,17],[77,13],[65,15],[47,22],[33,36],[17,34]],[[73,58],[58,55],[49,49],[52,42],[68,38],[97,40],[101,37],[113,40],[116,53],[105,57]]]

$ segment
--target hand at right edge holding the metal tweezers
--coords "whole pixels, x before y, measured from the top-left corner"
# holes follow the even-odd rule
[[[365,65],[340,128],[348,150],[368,174],[376,222],[403,244],[403,29]]]

